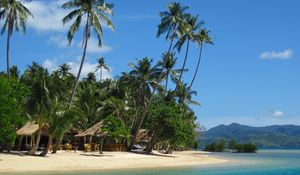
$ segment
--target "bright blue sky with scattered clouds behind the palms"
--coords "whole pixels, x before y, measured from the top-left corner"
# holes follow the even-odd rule
[[[14,33],[11,64],[22,71],[38,62],[50,71],[68,63],[76,73],[82,55],[78,33],[67,44],[69,24],[61,19],[65,0],[33,0],[25,5],[34,14],[26,34]],[[169,42],[156,38],[159,12],[168,0],[107,0],[114,3],[115,31],[104,26],[103,47],[89,41],[83,76],[94,71],[96,59],[105,57],[113,78],[128,71],[129,63],[143,57],[160,59]],[[203,49],[200,71],[193,89],[192,106],[205,128],[237,122],[251,126],[300,125],[300,1],[298,0],[180,0],[189,12],[205,21],[214,45]],[[0,23],[2,27],[2,23]],[[5,70],[6,35],[0,36],[0,71]],[[184,52],[178,55],[177,66]],[[192,45],[184,81],[190,82],[198,56]]]

